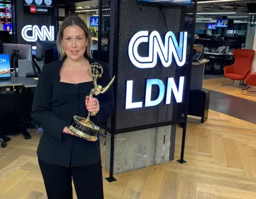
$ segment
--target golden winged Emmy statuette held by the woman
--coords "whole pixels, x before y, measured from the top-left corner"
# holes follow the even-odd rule
[[[92,77],[94,88],[90,92],[90,99],[93,98],[93,95],[97,96],[101,93],[106,92],[109,87],[113,84],[115,77],[109,82],[106,87],[97,85],[97,79],[102,77],[103,68],[99,63],[92,63],[88,67],[88,74]],[[88,117],[83,118],[77,115],[74,115],[72,123],[68,126],[68,129],[72,131],[77,136],[84,138],[88,141],[95,142],[97,141],[97,134],[99,133],[99,126],[90,121],[90,116],[96,115],[94,112],[88,112]]]

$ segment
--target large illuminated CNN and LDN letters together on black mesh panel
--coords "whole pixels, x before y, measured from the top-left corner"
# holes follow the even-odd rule
[[[134,34],[129,43],[129,59],[132,64],[138,68],[154,68],[157,64],[157,55],[159,56],[161,63],[164,67],[168,67],[172,64],[172,57],[178,66],[184,66],[186,63],[186,48],[187,48],[188,33],[181,32],[179,35],[179,44],[175,38],[175,35],[170,31],[165,34],[164,43],[161,40],[161,36],[157,31],[153,31],[148,34],[148,31],[140,31]],[[141,57],[138,53],[138,47],[141,43],[148,43],[148,56]],[[148,79],[146,82],[145,91],[145,107],[152,107],[159,105],[165,97],[165,103],[168,105],[171,103],[172,93],[177,103],[182,102],[183,89],[184,89],[184,77],[179,78],[179,88],[175,84],[174,78],[167,78],[167,88],[165,88],[164,82],[159,79]],[[157,85],[159,87],[159,94],[156,99],[152,100],[152,86]],[[128,80],[126,82],[126,97],[125,108],[141,108],[143,107],[142,101],[132,101],[134,81]]]

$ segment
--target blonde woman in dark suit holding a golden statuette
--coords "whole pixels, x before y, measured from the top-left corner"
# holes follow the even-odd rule
[[[113,114],[112,87],[97,98],[89,98],[93,88],[88,75],[90,64],[104,70],[97,84],[106,86],[111,78],[108,66],[91,58],[91,36],[80,17],[63,21],[57,39],[61,60],[46,64],[36,87],[31,116],[44,132],[38,145],[38,163],[49,199],[72,198],[72,179],[78,198],[103,198],[99,140],[79,138],[67,126],[74,115],[95,124]],[[89,100],[90,99],[90,100]],[[99,137],[99,136],[98,136]]]

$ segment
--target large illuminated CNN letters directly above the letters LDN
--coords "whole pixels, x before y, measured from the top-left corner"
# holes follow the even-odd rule
[[[157,55],[164,67],[172,64],[172,55],[178,66],[183,66],[186,62],[188,33],[181,32],[179,45],[173,32],[165,34],[164,43],[160,34],[153,31],[148,36],[148,31],[140,31],[134,34],[129,43],[129,58],[138,68],[154,68],[157,64]],[[138,47],[141,43],[148,43],[148,57],[141,57],[138,54]]]

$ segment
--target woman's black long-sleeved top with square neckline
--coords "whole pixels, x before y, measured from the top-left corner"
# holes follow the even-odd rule
[[[100,161],[100,145],[77,136],[62,133],[74,115],[87,117],[85,98],[93,88],[92,82],[69,84],[60,82],[60,69],[63,60],[46,64],[42,70],[35,96],[31,116],[44,129],[38,145],[38,158],[46,163],[60,166],[94,165]],[[93,59],[89,63],[99,63],[103,75],[97,79],[102,87],[111,81],[108,65]],[[95,96],[93,96],[95,97]],[[113,87],[104,94],[96,96],[100,110],[96,117],[91,117],[95,124],[105,122],[114,112]]]

